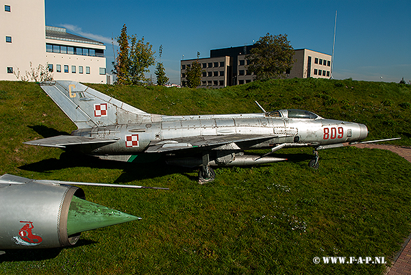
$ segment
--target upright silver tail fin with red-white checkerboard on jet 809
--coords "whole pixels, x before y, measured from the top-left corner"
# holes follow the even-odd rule
[[[40,87],[79,129],[145,122],[151,118],[151,114],[76,81],[46,81]]]

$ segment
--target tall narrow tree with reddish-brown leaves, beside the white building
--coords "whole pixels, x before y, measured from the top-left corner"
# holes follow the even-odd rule
[[[131,83],[129,76],[129,42],[125,24],[116,40],[119,43],[119,49],[117,50],[116,61],[113,62],[114,70],[112,72],[117,75],[117,84],[129,85]]]

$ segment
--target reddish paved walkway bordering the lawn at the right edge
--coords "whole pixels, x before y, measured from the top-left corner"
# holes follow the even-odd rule
[[[395,145],[384,145],[384,144],[356,144],[354,145],[358,148],[371,148],[371,149],[384,149],[390,150],[397,153],[404,159],[411,162],[411,148],[410,147],[399,147]],[[388,267],[384,274],[386,275],[404,275],[411,274],[411,235],[404,242],[401,250],[395,256],[395,263]]]

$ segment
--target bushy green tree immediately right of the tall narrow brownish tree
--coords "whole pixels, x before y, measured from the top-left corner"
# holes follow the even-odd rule
[[[131,44],[129,72],[132,84],[136,85],[149,81],[149,78],[145,77],[145,73],[149,73],[149,66],[155,64],[155,58],[153,57],[155,52],[151,50],[153,45],[144,42],[144,36],[137,41],[137,36],[132,35]]]

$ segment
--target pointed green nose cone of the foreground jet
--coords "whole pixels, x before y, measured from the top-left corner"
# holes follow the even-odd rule
[[[67,218],[67,235],[132,220],[140,218],[73,196]]]

